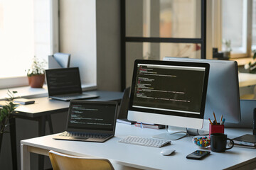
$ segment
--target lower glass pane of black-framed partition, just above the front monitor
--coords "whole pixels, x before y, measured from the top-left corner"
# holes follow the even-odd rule
[[[164,57],[201,58],[201,45],[194,43],[127,42],[126,49],[126,86],[131,86],[134,61],[137,59],[163,60]]]

